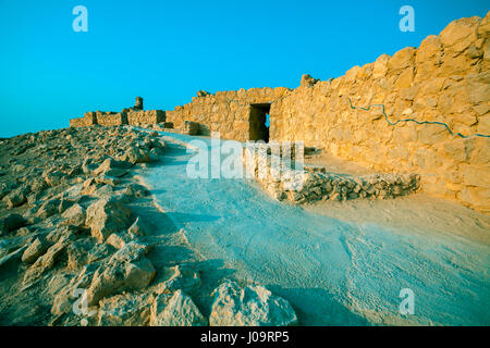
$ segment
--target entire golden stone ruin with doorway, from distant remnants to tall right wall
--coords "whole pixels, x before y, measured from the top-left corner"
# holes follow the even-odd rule
[[[488,213],[490,12],[454,21],[418,48],[382,54],[336,78],[304,75],[294,89],[199,90],[171,111],[88,112],[70,122],[94,124],[301,140],[381,173],[417,173],[424,191]]]

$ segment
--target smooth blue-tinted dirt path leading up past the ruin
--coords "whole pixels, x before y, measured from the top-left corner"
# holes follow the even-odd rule
[[[290,300],[301,324],[490,324],[488,216],[461,209],[460,223],[443,223],[452,212],[430,199],[303,209],[254,182],[189,178],[194,154],[169,144],[145,175],[158,204],[203,256]],[[402,288],[415,293],[414,315],[399,312]]]

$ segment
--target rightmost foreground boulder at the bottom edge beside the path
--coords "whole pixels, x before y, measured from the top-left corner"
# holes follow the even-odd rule
[[[291,304],[262,286],[241,288],[226,281],[213,291],[211,326],[287,326],[297,324]]]

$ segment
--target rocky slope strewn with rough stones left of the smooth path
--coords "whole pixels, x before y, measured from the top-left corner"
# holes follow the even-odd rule
[[[166,144],[131,126],[0,140],[0,325],[292,325],[154,204],[139,174]]]

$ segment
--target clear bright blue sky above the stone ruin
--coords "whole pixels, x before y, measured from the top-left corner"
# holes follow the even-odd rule
[[[88,33],[72,29],[75,5]],[[399,29],[402,5],[415,33]],[[172,110],[199,89],[297,87],[419,46],[488,1],[0,0],[0,137],[66,127],[85,111]]]

